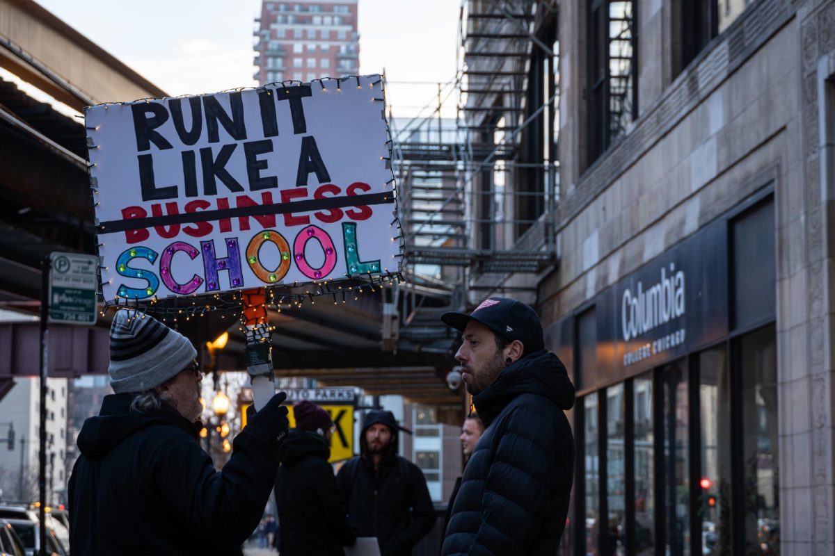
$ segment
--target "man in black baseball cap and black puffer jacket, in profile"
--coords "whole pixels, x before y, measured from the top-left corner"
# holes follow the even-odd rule
[[[524,303],[489,298],[441,319],[463,333],[455,358],[487,427],[464,469],[442,554],[551,556],[574,480],[568,373]]]

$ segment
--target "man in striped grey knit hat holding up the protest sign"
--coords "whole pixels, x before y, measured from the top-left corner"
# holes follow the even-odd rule
[[[92,554],[240,554],[261,520],[286,436],[276,394],[235,437],[222,471],[198,442],[200,379],[188,339],[133,310],[110,328],[110,385],[78,434],[69,544]]]

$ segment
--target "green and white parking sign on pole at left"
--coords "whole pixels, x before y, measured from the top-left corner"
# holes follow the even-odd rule
[[[95,324],[99,258],[56,252],[49,259],[49,322]]]

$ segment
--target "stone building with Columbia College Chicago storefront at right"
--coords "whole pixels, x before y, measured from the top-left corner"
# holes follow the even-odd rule
[[[835,553],[835,2],[544,4],[564,553]]]

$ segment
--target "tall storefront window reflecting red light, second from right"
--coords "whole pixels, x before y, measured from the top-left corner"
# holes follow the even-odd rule
[[[702,554],[731,553],[731,400],[724,347],[699,354]]]

